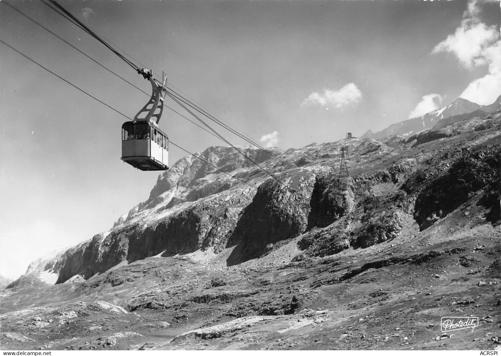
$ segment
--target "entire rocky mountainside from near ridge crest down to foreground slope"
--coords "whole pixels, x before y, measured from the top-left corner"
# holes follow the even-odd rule
[[[228,147],[183,158],[113,229],[2,292],[1,347],[493,349],[500,128],[494,112],[277,157],[244,147],[273,177]],[[479,324],[443,332],[447,315]]]

